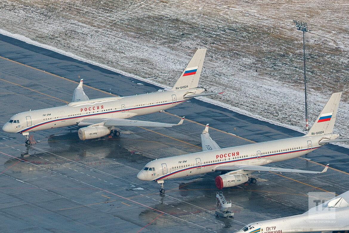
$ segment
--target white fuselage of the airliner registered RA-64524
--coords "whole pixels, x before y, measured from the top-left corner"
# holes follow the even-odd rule
[[[186,93],[203,91],[203,88],[192,88],[72,102],[64,106],[18,113],[12,116],[2,129],[6,132],[27,134],[38,130],[77,125],[86,118],[126,119],[172,108],[191,99],[184,99]]]

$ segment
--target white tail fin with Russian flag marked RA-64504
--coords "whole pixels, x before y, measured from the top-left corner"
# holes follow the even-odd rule
[[[336,121],[341,92],[333,93],[306,136],[332,133]]]

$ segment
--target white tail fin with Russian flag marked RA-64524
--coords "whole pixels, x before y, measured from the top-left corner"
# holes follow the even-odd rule
[[[194,56],[171,90],[185,90],[198,87],[205,54],[206,49],[196,50]]]

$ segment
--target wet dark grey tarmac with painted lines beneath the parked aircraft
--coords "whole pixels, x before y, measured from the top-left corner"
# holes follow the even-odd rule
[[[2,35],[0,56],[1,127],[17,112],[70,102],[79,75],[90,99],[160,89]],[[220,173],[165,181],[166,195],[160,195],[157,183],[140,181],[137,173],[153,159],[201,151],[207,123],[221,147],[302,135],[199,100],[135,119],[177,123],[176,115],[186,117],[183,125],[120,127],[121,136],[114,138],[81,141],[73,126],[38,131],[31,147],[21,134],[0,131],[0,231],[234,232],[307,211],[309,192],[349,189],[349,150],[326,145],[305,156],[311,160],[270,166],[322,170],[330,163],[327,173],[254,173],[257,184],[223,189],[233,219],[215,216],[214,179]]]

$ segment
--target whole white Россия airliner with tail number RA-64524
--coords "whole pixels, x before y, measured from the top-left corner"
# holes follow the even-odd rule
[[[22,133],[28,140],[29,132],[60,128],[64,126],[86,126],[78,131],[81,140],[98,137],[119,136],[115,126],[159,126],[172,127],[178,124],[167,124],[149,121],[135,121],[126,118],[154,113],[172,108],[195,96],[214,95],[198,88],[206,49],[196,50],[172,89],[133,96],[105,97],[90,100],[82,88],[82,79],[74,90],[73,100],[67,105],[21,112],[3,125],[2,130],[9,133]]]

